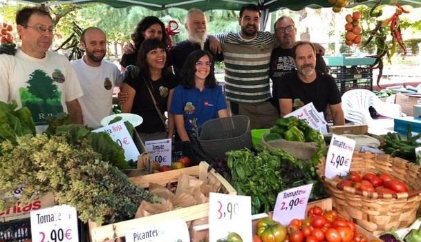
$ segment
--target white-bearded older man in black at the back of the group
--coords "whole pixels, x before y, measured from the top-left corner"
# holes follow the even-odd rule
[[[183,68],[187,56],[194,50],[208,50],[209,38],[207,36],[207,19],[205,14],[198,9],[191,9],[185,17],[187,39],[174,45],[169,50],[171,63],[178,75]],[[222,61],[222,54],[214,56],[214,61]],[[214,63],[212,63],[212,66]]]

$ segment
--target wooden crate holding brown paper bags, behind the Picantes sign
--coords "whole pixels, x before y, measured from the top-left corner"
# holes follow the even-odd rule
[[[225,194],[236,194],[232,185],[228,183],[220,174],[216,173],[213,169],[211,172],[207,172],[209,165],[206,162],[201,162],[199,165],[183,168],[179,170],[170,170],[167,172],[160,172],[154,174],[148,174],[141,177],[130,178],[133,183],[140,185],[143,188],[147,188],[149,183],[158,183],[165,185],[169,182],[178,180],[180,174],[188,174],[202,181],[206,181],[208,177],[214,177],[222,184],[222,191]],[[209,214],[209,203],[203,203],[194,205],[189,208],[180,208],[177,210],[164,212],[162,214],[154,214],[151,216],[145,216],[139,219],[131,219],[128,221],[122,221],[119,223],[113,223],[109,225],[97,226],[95,223],[89,223],[89,236],[91,242],[99,242],[107,239],[120,238],[130,230],[139,228],[142,225],[148,225],[149,223],[156,223],[159,221],[165,221],[168,219],[183,219],[184,221],[194,221],[196,219],[202,219],[207,217]]]

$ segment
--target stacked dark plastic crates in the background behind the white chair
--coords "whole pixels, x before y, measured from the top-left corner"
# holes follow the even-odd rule
[[[341,94],[351,89],[373,90],[373,70],[368,66],[331,66],[330,74]]]

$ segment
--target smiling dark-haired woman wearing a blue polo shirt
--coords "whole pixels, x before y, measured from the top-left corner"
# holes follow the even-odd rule
[[[209,119],[227,117],[227,105],[222,88],[216,85],[212,54],[204,50],[191,52],[181,70],[182,84],[174,90],[171,114],[174,115],[181,141]]]

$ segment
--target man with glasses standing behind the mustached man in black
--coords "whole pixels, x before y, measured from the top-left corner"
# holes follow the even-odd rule
[[[279,47],[272,51],[270,58],[270,79],[272,79],[272,97],[274,105],[279,106],[278,85],[279,79],[288,72],[295,70],[294,59],[292,58],[292,48],[297,42],[297,28],[294,21],[288,16],[282,16],[274,23],[275,36],[279,42]],[[316,55],[316,70],[328,73],[326,63],[321,54]]]

